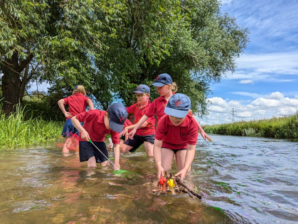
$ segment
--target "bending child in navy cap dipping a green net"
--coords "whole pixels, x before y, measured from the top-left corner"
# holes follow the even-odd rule
[[[88,167],[96,167],[96,163],[101,166],[109,165],[107,146],[105,145],[105,136],[111,134],[115,166],[119,169],[119,133],[123,129],[123,124],[127,118],[125,106],[119,103],[111,104],[107,111],[89,110],[74,116],[71,120],[74,126],[80,131],[79,154],[80,162],[87,161]],[[84,122],[83,126],[80,122]],[[89,139],[96,145],[100,153]],[[115,169],[115,167],[114,167]]]

